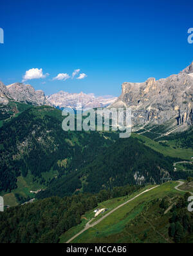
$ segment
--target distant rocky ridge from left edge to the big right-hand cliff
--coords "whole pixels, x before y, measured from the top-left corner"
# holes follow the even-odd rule
[[[77,106],[80,107],[81,104],[83,109],[93,109],[96,107],[107,107],[114,103],[117,98],[95,97],[94,94],[85,94],[83,92],[77,94],[64,91],[45,96],[43,91],[35,91],[32,85],[13,83],[5,86],[0,82],[0,103],[6,105],[9,100],[38,106],[50,105],[60,109],[64,107],[77,109]]]

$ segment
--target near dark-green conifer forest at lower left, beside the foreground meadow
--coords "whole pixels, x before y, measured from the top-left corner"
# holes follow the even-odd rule
[[[97,195],[80,194],[73,197],[50,197],[33,204],[17,206],[0,212],[0,243],[53,243],[59,236],[81,222],[81,217],[111,198],[131,195],[140,186],[115,187]]]

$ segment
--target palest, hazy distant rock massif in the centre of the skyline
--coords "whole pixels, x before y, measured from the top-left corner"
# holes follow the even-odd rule
[[[72,107],[73,109],[79,109],[80,104],[82,105],[82,109],[107,107],[116,100],[117,98],[96,98],[94,94],[84,94],[83,92],[76,94],[60,91],[48,96],[48,101],[52,105],[55,105],[55,107]]]

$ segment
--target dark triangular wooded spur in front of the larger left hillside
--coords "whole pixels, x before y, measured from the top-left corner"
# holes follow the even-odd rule
[[[53,180],[37,198],[63,197],[75,192],[75,188],[86,193],[98,193],[101,189],[126,184],[160,183],[161,178],[186,178],[187,173],[174,172],[173,164],[178,160],[161,155],[137,138],[119,139],[80,171]]]

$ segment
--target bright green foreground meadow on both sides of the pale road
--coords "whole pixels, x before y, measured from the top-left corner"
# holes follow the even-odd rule
[[[125,227],[129,224],[129,222],[131,222],[136,217],[138,217],[142,213],[142,211],[144,211],[144,208],[147,207],[147,204],[149,204],[149,202],[155,199],[161,200],[161,198],[167,197],[167,196],[171,198],[176,196],[178,197],[178,195],[183,194],[183,192],[179,192],[179,191],[176,191],[176,189],[174,189],[174,187],[177,185],[178,185],[178,182],[167,182],[141,195],[140,197],[134,199],[133,201],[126,204],[125,206],[122,206],[122,208],[117,209],[114,213],[106,217],[106,219],[102,220],[102,222],[100,222],[93,228],[87,229],[87,231],[85,231],[79,237],[74,239],[73,243],[109,242],[110,237],[111,237],[111,242],[124,242],[125,235],[123,235],[122,232],[124,232]],[[145,190],[148,188],[149,187],[145,187]],[[140,191],[138,191],[138,193],[134,193],[130,197],[115,198],[112,200],[108,200],[106,202],[102,202],[101,204],[98,204],[98,208],[107,208],[110,211],[111,209],[116,208],[116,206],[122,204],[123,202],[126,202],[130,198],[135,197],[139,193]],[[85,217],[89,217],[87,221],[91,219],[93,215],[94,215],[93,211],[90,211],[89,213],[87,213],[85,215]],[[101,217],[103,217],[103,215],[100,215],[98,218],[93,220],[93,222],[100,219]],[[60,237],[60,242],[66,242],[71,237],[73,237],[73,235],[81,231],[86,225],[87,221],[84,220],[77,227],[69,229],[69,231],[67,231]],[[116,240],[117,236],[120,236],[120,239]]]

